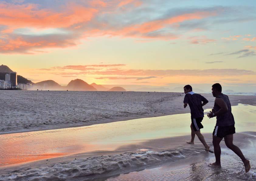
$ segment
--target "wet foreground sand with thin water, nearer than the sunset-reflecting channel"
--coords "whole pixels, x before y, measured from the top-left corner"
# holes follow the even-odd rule
[[[211,144],[211,134],[205,134]],[[206,152],[202,143],[185,143],[189,136],[163,138],[119,147],[114,152],[101,152],[74,155],[72,157],[42,160],[19,167],[1,170],[0,180],[166,180],[189,179],[201,175],[202,179],[255,180],[256,132],[243,132],[234,135],[234,144],[239,146],[251,160],[251,171],[244,172],[239,157],[222,147],[222,169],[208,168],[214,162],[214,154]],[[126,151],[125,150],[135,150]],[[195,168],[198,167],[198,168]],[[194,169],[191,171],[191,169]],[[141,172],[140,172],[141,170]],[[148,172],[149,170],[149,172]],[[153,170],[153,171],[152,171]],[[201,171],[200,171],[201,170]],[[135,171],[135,172],[134,172]],[[129,173],[129,174],[125,174]],[[168,173],[171,173],[171,175]],[[218,174],[221,173],[221,177]],[[124,175],[123,175],[124,174]]]

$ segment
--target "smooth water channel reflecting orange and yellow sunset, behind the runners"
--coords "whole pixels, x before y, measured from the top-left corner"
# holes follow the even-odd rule
[[[232,112],[237,132],[256,130],[256,107],[239,104],[232,107]],[[215,121],[205,117],[202,133],[211,133]],[[131,143],[187,135],[190,134],[190,123],[190,114],[177,114],[86,127],[3,134],[0,135],[0,166],[99,150],[113,151]]]

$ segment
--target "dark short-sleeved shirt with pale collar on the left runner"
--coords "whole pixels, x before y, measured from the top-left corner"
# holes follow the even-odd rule
[[[195,94],[194,92],[189,92],[185,95],[183,103],[189,104],[191,118],[204,117],[202,101],[204,103],[209,102],[205,97],[200,94]]]

